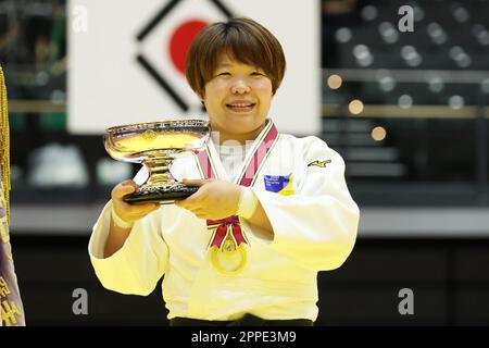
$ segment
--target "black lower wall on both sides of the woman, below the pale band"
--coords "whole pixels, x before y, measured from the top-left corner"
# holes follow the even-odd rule
[[[29,325],[167,325],[160,285],[149,297],[104,289],[86,237],[16,237],[16,271]],[[73,291],[88,294],[75,315]],[[318,275],[316,325],[488,325],[489,241],[361,238],[342,268]],[[411,288],[414,314],[400,315]]]

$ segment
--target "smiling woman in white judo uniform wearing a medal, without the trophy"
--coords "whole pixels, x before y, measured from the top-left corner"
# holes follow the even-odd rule
[[[351,253],[359,208],[341,157],[268,116],[285,66],[280,44],[249,18],[196,37],[187,79],[213,132],[172,171],[199,189],[155,207],[124,201],[143,171],[115,186],[89,243],[103,286],[148,295],[164,275],[171,325],[313,324],[317,272]]]

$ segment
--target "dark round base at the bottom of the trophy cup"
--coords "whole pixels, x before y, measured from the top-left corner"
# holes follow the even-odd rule
[[[167,187],[140,187],[134,194],[124,197],[128,203],[161,203],[173,204],[176,199],[185,199],[195,192],[199,187],[175,185]]]

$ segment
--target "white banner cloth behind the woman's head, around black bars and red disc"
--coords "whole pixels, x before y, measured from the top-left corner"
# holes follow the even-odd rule
[[[317,0],[220,0],[235,16],[249,16],[280,41],[287,72],[269,115],[280,132],[321,128],[321,8]],[[138,35],[168,4],[172,10],[142,39]],[[211,0],[70,0],[68,129],[101,134],[106,127],[202,115],[167,45],[189,20],[225,21]],[[188,107],[181,107],[138,62],[142,57]]]

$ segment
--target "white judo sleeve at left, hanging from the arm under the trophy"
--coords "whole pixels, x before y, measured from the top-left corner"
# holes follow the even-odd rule
[[[93,226],[88,245],[91,264],[102,285],[122,294],[149,295],[166,272],[168,248],[161,229],[161,210],[137,221],[124,246],[109,258],[103,249],[111,223],[112,201]]]

